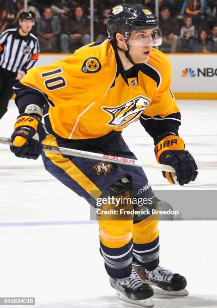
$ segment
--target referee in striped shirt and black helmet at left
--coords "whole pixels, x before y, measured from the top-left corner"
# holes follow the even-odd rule
[[[8,110],[16,80],[21,80],[38,60],[38,39],[30,33],[33,24],[32,14],[24,12],[19,17],[20,27],[6,30],[0,37],[0,119]]]

